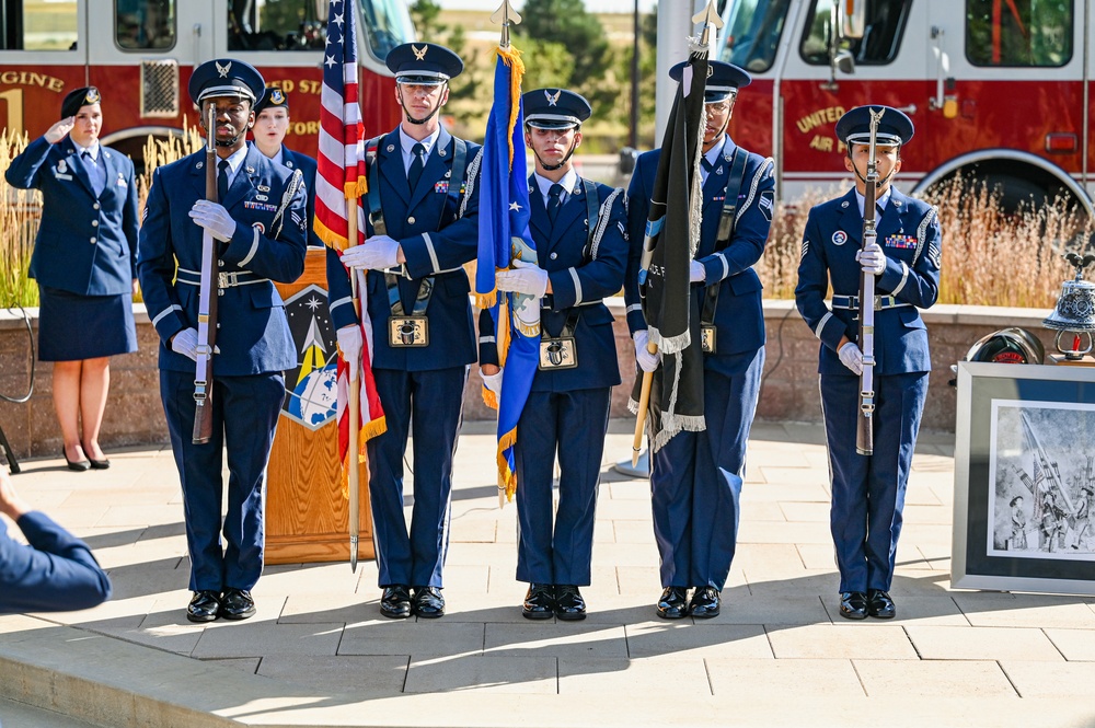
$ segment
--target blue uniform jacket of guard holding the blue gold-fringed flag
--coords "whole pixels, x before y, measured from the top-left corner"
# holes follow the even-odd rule
[[[587,217],[580,180],[574,193],[567,195],[552,226],[543,195],[530,177],[529,228],[537,244],[540,267],[548,271],[553,291],[544,299],[540,325],[550,335],[558,335],[575,307],[579,311],[574,332],[577,368],[537,371],[532,380],[533,392],[590,390],[620,383],[612,312],[601,299],[620,292],[623,286],[627,265],[627,210],[622,194],[609,200],[616,189],[602,184],[597,184],[596,188],[598,220],[603,221],[604,230],[595,241],[595,250],[587,251],[589,226],[597,226],[598,220]],[[495,342],[483,343],[480,358],[483,363],[498,363]]]

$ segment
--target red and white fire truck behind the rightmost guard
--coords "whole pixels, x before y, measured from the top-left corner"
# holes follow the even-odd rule
[[[835,7],[834,7],[834,3]],[[1004,203],[1092,212],[1092,0],[729,0],[719,58],[749,70],[736,140],[775,158],[781,198],[846,178],[833,124],[867,103],[917,125],[899,184],[955,174]]]

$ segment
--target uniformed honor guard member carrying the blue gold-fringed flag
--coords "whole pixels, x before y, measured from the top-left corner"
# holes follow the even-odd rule
[[[574,171],[570,157],[589,103],[565,89],[530,91],[522,102],[525,143],[535,158],[529,228],[540,263],[518,262],[516,270],[497,274],[499,291],[542,301],[540,366],[517,424],[517,579],[529,582],[526,617],[583,620],[578,587],[590,583],[601,454],[612,388],[620,383],[612,313],[601,299],[623,286],[627,213],[622,189]],[[484,381],[499,393],[493,339],[481,345],[481,361]]]

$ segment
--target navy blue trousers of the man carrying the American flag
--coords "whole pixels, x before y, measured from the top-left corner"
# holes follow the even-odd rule
[[[388,423],[388,430],[368,442],[378,581],[381,587],[441,587],[441,567],[449,547],[452,459],[468,368],[376,369],[372,373]],[[410,533],[403,516],[403,453],[408,435],[414,436]]]

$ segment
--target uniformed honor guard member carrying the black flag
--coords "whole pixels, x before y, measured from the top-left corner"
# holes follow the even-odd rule
[[[678,63],[670,76],[679,81],[683,68]],[[746,441],[764,368],[762,287],[752,266],[764,252],[772,224],[774,164],[737,146],[726,132],[738,89],[749,82],[737,66],[711,61],[700,159],[703,220],[690,276],[693,311],[701,312],[703,327],[706,430],[676,435],[650,459],[664,587],[657,613],[667,620],[719,612],[719,592],[737,543]],[[659,157],[660,150],[639,155],[627,192],[631,258],[624,294],[635,356],[644,371],[658,365],[658,356],[646,350],[638,267]],[[689,587],[695,587],[691,599]]]

